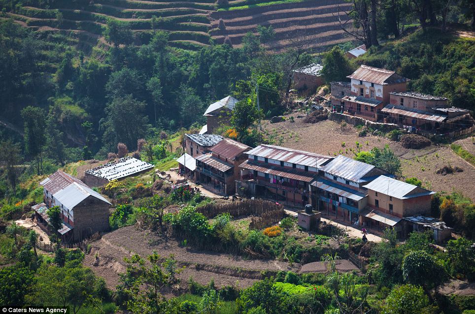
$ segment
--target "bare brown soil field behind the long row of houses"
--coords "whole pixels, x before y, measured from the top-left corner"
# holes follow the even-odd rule
[[[447,145],[407,149],[399,142],[384,137],[373,135],[359,137],[358,130],[351,125],[347,125],[346,130],[341,130],[340,125],[331,120],[314,124],[305,123],[302,118],[304,115],[304,113],[295,112],[289,115],[289,117],[294,117],[295,122],[286,119],[286,121],[271,124],[266,120],[263,121],[262,126],[269,132],[276,145],[330,156],[340,153],[344,156],[354,157],[350,148],[356,148],[356,141],[363,145],[361,150],[371,150],[373,147],[383,148],[388,144],[402,160],[403,177],[415,176],[422,180],[426,187],[432,188],[436,192],[450,193],[455,189],[475,201],[475,167],[455,155]],[[298,116],[302,117],[298,118]],[[463,143],[474,149],[475,145],[471,138],[463,140]],[[465,148],[465,146],[463,147]],[[448,165],[460,167],[463,172],[447,175],[436,174],[437,170]]]

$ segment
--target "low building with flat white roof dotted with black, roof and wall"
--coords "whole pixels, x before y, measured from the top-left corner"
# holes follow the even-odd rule
[[[152,168],[154,168],[153,165],[134,157],[124,157],[87,170],[84,182],[88,186],[102,186],[111,180],[120,180],[130,175],[146,172]]]

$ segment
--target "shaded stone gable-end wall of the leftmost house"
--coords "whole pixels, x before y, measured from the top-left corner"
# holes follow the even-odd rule
[[[79,242],[96,232],[109,231],[110,205],[89,196],[74,207],[73,242]]]

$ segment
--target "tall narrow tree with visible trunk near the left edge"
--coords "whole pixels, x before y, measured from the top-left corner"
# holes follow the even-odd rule
[[[43,109],[28,106],[21,111],[25,125],[25,152],[36,161],[36,173],[43,173],[43,146],[46,142],[46,129]]]

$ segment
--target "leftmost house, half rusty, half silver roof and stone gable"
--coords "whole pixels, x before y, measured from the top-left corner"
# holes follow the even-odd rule
[[[94,233],[109,230],[109,208],[112,206],[101,194],[78,178],[58,170],[40,182],[44,203],[33,207],[35,220],[46,232],[47,209],[61,209],[63,226],[58,233],[64,242],[79,242]]]

